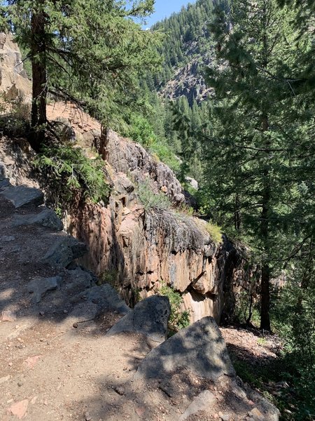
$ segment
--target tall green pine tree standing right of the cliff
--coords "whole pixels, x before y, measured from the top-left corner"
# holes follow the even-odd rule
[[[275,0],[227,6],[216,8],[211,25],[218,67],[207,72],[216,93],[209,144],[216,171],[210,164],[209,178],[218,208],[232,215],[235,228],[243,227],[260,257],[260,328],[270,330],[270,282],[288,246],[283,236],[297,220],[290,206],[302,182],[293,176],[301,99],[287,75],[300,77],[304,68],[297,63],[311,46],[307,34],[297,34],[296,12]],[[304,134],[309,137],[305,127]]]

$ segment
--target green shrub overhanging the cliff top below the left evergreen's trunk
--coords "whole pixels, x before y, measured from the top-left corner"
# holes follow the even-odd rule
[[[82,149],[70,145],[45,147],[34,160],[55,206],[69,206],[76,196],[92,202],[106,202],[109,185],[104,174],[104,161],[89,159]]]

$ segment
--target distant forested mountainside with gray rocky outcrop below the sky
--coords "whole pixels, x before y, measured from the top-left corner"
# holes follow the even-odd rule
[[[192,106],[209,95],[202,73],[214,58],[208,29],[213,8],[213,0],[199,0],[154,25],[153,30],[166,34],[160,49],[163,70],[153,81],[165,98],[185,96]]]

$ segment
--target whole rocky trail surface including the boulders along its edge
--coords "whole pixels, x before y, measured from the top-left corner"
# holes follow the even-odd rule
[[[131,310],[76,263],[43,194],[0,178],[0,419],[278,420],[237,379],[214,319],[167,339],[169,302]]]

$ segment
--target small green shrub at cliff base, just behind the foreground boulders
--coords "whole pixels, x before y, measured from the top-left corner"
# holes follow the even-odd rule
[[[169,298],[169,303],[171,305],[171,315],[169,316],[170,334],[174,335],[174,333],[179,330],[187,328],[190,324],[189,312],[181,312],[181,304],[183,303],[181,294],[177,293],[174,288],[165,284],[158,290],[158,294]]]

